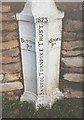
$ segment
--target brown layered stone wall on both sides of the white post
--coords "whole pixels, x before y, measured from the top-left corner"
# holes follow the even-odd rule
[[[71,7],[72,6],[72,7]],[[15,14],[20,12],[24,3],[3,3],[2,11],[2,71],[0,71],[0,88],[3,95],[19,98],[23,90],[18,24]],[[57,3],[65,12],[63,20],[60,88],[66,97],[82,96],[82,4]],[[1,23],[0,23],[1,24]],[[1,92],[1,89],[0,89]]]

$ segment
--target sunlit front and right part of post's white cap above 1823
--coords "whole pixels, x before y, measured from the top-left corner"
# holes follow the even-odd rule
[[[51,17],[55,15],[56,18],[63,18],[63,12],[59,11],[56,7],[54,0],[30,0],[32,2],[32,13],[34,16]]]

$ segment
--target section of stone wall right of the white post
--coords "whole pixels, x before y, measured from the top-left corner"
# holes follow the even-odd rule
[[[60,87],[66,97],[81,97],[82,94],[82,4],[58,3],[65,12],[61,51]]]

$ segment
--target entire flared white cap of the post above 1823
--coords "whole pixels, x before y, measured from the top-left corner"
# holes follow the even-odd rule
[[[28,0],[21,13],[16,14],[17,20],[35,22],[34,18],[47,17],[49,21],[62,19],[64,12],[57,9],[54,0]]]

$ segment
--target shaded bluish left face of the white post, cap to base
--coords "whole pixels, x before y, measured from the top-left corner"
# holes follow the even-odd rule
[[[24,80],[24,94],[21,101],[36,102],[36,51],[35,24],[31,3],[25,4],[21,13],[16,14],[19,24],[20,48]]]

